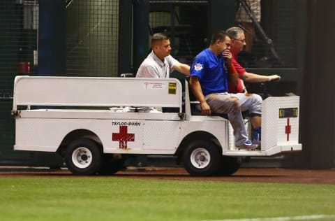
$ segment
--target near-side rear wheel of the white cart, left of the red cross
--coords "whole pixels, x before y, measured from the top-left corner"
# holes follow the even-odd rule
[[[90,139],[77,139],[66,148],[65,162],[68,170],[73,174],[96,174],[102,165],[101,148]]]

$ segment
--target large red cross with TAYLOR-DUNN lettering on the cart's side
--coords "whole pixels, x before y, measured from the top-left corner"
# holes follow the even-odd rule
[[[119,149],[142,148],[142,121],[113,121],[112,146]]]

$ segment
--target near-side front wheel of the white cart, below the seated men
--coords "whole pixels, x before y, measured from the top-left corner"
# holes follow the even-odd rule
[[[192,176],[213,176],[218,171],[220,156],[217,145],[211,141],[193,141],[186,147],[182,162]]]

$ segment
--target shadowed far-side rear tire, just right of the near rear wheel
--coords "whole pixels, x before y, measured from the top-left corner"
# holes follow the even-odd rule
[[[103,165],[99,170],[100,175],[112,175],[124,168],[125,159],[118,159],[114,155],[103,155]]]

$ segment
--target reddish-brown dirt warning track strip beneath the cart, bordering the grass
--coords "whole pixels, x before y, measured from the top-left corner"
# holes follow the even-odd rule
[[[38,167],[0,167],[0,177],[77,177],[67,169],[47,169]],[[232,176],[194,177],[181,167],[128,167],[112,175],[119,178],[157,180],[218,180],[233,182],[262,183],[313,183],[335,185],[335,169],[308,170],[283,168],[241,168]],[[111,177],[112,177],[111,176]]]

